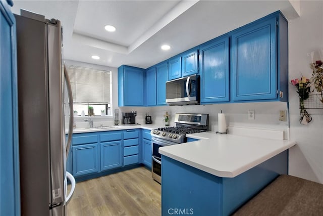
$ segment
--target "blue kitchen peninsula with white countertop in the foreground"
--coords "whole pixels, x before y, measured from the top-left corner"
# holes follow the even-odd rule
[[[162,215],[230,215],[288,174],[294,141],[214,132],[188,135],[195,142],[159,148]]]

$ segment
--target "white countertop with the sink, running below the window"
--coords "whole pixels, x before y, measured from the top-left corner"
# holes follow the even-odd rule
[[[163,125],[157,125],[157,124],[137,124],[137,125],[109,125],[109,128],[73,128],[73,134],[78,133],[89,133],[89,132],[102,132],[102,131],[118,131],[123,129],[156,129],[158,127],[163,127]],[[66,131],[66,134],[68,131]]]

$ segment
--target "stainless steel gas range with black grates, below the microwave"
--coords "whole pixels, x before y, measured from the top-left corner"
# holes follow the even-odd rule
[[[152,178],[161,183],[161,155],[159,147],[186,143],[187,134],[208,131],[208,114],[176,113],[175,127],[153,129],[151,135]]]

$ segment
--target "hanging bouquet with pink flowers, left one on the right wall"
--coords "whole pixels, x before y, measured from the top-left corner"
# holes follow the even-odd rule
[[[292,84],[297,88],[297,93],[300,101],[300,118],[299,122],[307,124],[312,120],[312,117],[308,114],[304,107],[304,100],[308,99],[311,88],[311,80],[302,76],[300,79],[292,79]]]

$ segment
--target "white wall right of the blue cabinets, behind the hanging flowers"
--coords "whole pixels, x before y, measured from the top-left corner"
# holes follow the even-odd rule
[[[300,18],[289,22],[289,78],[309,77],[306,54],[323,48],[323,2],[301,1]],[[295,87],[289,88],[291,139],[297,146],[290,151],[290,175],[323,183],[323,109],[309,109],[313,120],[299,124],[298,97]]]

